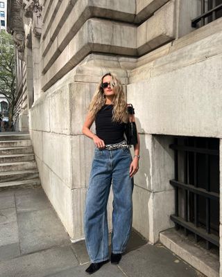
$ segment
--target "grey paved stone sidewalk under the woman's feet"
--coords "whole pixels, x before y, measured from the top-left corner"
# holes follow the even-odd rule
[[[0,191],[0,277],[83,277],[84,241],[71,243],[41,187]],[[162,244],[133,232],[119,265],[94,277],[202,277]]]

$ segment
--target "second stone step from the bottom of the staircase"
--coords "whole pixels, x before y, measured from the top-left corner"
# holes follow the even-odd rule
[[[39,177],[37,168],[33,170],[17,170],[0,172],[0,182],[30,180]]]

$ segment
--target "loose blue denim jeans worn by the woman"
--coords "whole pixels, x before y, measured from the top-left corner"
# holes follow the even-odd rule
[[[110,186],[114,195],[112,253],[123,253],[132,226],[133,178],[130,150],[95,149],[85,206],[85,242],[91,262],[108,260],[107,203]]]

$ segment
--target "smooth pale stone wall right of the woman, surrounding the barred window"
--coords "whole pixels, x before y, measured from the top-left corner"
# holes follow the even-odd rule
[[[151,242],[172,226],[172,136],[222,136],[221,24],[218,19],[148,53],[130,71],[128,102],[134,103],[142,141],[133,223]]]

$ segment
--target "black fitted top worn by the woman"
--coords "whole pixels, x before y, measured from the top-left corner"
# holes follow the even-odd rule
[[[104,105],[96,114],[96,135],[106,144],[120,143],[124,140],[125,123],[112,121],[113,105]],[[132,107],[128,112],[134,114]]]

